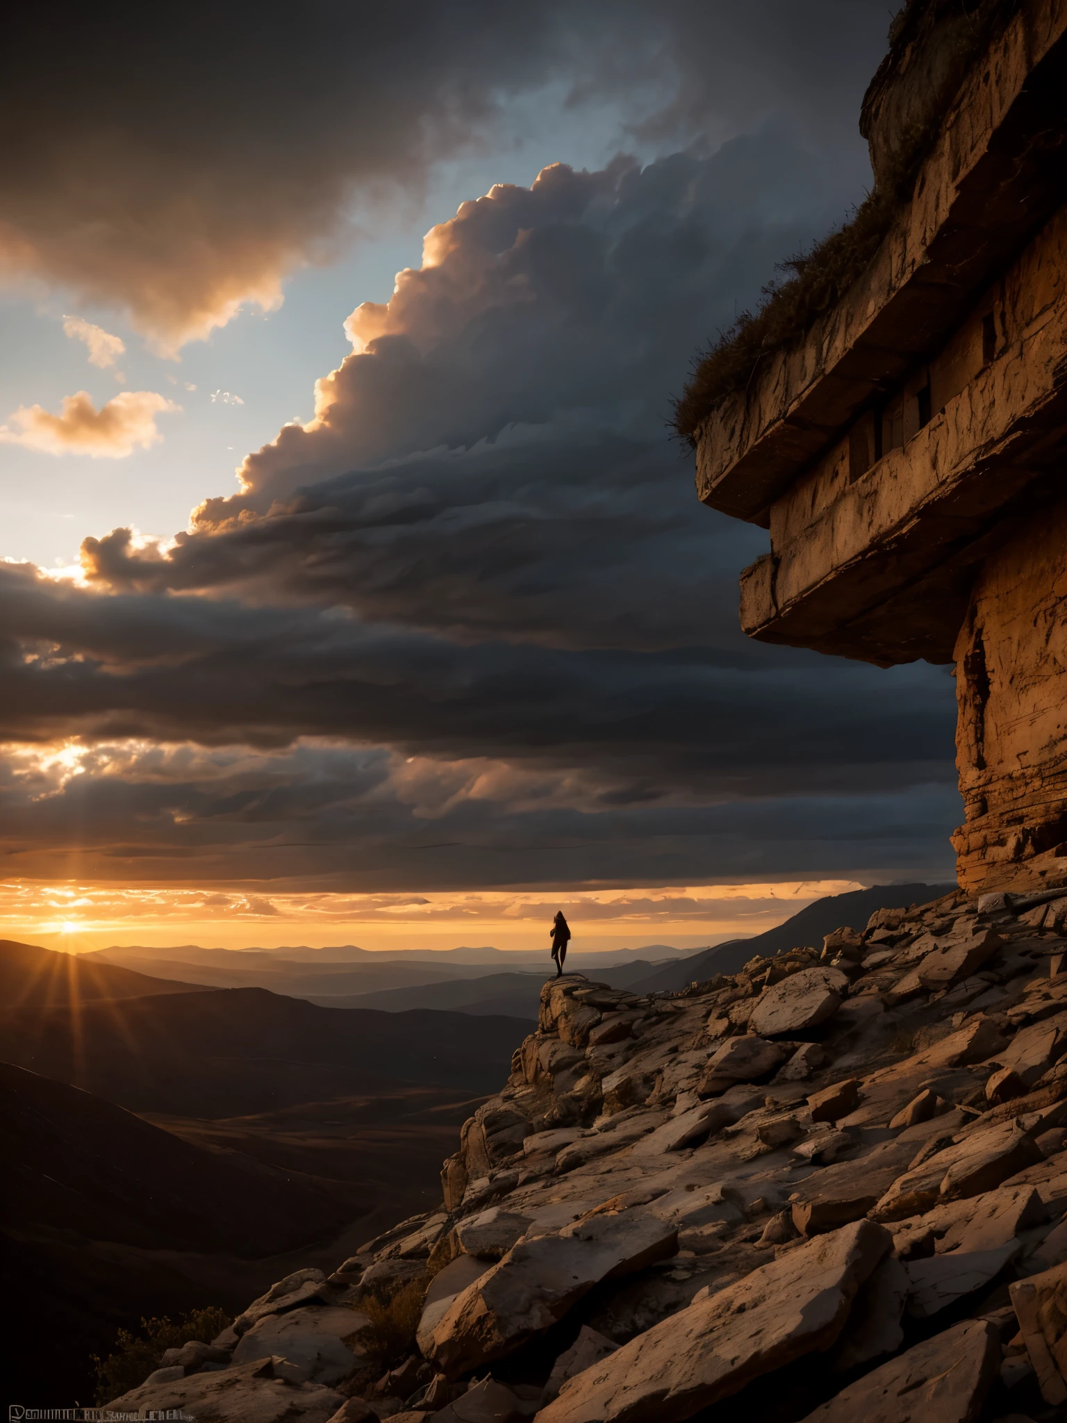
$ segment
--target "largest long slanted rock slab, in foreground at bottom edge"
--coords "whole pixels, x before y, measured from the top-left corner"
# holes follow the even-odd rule
[[[674,1423],[841,1333],[891,1247],[858,1221],[691,1303],[565,1383],[538,1423]]]

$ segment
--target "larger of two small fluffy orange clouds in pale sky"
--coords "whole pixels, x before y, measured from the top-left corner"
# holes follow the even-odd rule
[[[44,406],[20,406],[0,425],[0,443],[26,445],[44,454],[87,454],[94,460],[124,460],[162,440],[155,417],[181,410],[152,390],[124,390],[97,410],[87,390],[63,397],[54,416]]]

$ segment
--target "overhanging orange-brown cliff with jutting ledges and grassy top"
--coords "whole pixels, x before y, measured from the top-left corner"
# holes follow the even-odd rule
[[[707,416],[697,490],[770,528],[751,636],[955,665],[982,892],[1067,885],[1067,11],[973,20],[906,7],[864,110],[889,229]]]

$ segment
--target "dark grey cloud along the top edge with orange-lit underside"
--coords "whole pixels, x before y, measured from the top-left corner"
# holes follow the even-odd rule
[[[524,100],[680,145],[782,112],[858,176],[886,23],[879,0],[23,6],[0,54],[0,265],[174,351],[276,306],[287,272],[502,141]]]

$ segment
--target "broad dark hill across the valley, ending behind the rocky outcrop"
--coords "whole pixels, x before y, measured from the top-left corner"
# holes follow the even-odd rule
[[[515,1017],[317,1007],[259,988],[159,993],[0,1016],[4,1057],[131,1111],[230,1117],[398,1083],[469,1094],[506,1076]]]

